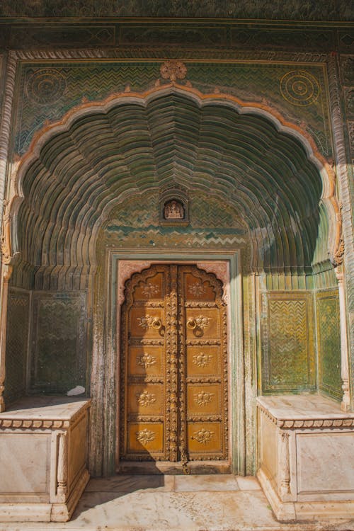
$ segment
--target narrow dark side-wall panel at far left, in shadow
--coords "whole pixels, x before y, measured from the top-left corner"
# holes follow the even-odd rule
[[[29,309],[29,293],[9,291],[5,378],[7,402],[19,398],[25,392]]]

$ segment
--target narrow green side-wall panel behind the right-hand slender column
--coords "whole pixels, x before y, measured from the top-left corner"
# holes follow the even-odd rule
[[[341,400],[341,325],[337,290],[316,294],[316,314],[319,388],[334,399]]]

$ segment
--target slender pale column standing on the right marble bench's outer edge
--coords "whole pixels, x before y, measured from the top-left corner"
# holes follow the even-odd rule
[[[347,341],[347,321],[346,321],[346,294],[344,292],[343,270],[340,267],[335,269],[338,280],[339,293],[339,316],[341,321],[341,379],[343,389],[343,399],[341,408],[343,411],[350,409],[349,391],[349,364],[348,364],[348,341]]]

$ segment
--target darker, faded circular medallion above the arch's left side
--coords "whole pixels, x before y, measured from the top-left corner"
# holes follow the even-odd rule
[[[38,69],[30,74],[26,90],[28,98],[40,105],[53,103],[61,98],[67,88],[67,82],[59,70],[53,68]]]

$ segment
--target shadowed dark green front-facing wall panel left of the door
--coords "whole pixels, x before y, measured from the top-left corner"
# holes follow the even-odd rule
[[[86,292],[33,295],[31,389],[86,388]]]

